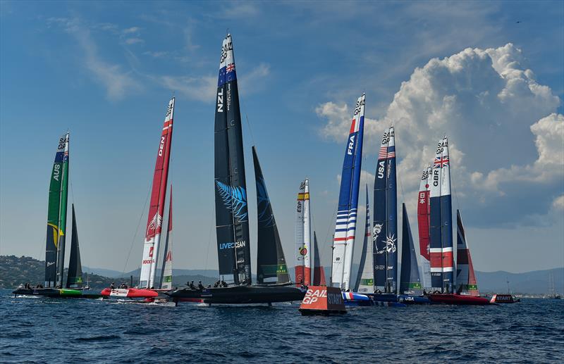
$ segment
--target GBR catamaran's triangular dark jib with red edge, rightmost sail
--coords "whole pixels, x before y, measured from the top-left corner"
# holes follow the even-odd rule
[[[465,291],[470,296],[479,296],[472,256],[470,256],[464,225],[462,225],[462,218],[458,210],[456,211],[456,227],[456,290]]]

